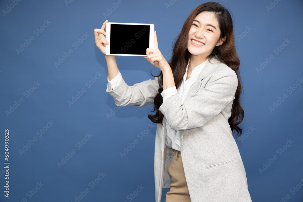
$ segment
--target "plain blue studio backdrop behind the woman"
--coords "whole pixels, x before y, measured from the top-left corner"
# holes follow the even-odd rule
[[[112,13],[108,12],[117,2],[20,1],[12,5],[12,1],[1,1],[0,201],[16,202],[25,198],[37,202],[69,202],[75,201],[87,188],[89,192],[80,197],[81,202],[124,202],[130,201],[128,195],[141,185],[143,190],[132,201],[155,201],[156,127],[145,137],[138,137],[152,123],[147,118],[152,105],[143,108],[115,105],[106,92],[107,65],[95,45],[94,29],[100,28],[106,19],[152,23],[159,49],[169,60],[172,41],[185,19],[204,2],[122,0],[117,8],[112,8]],[[299,185],[303,179],[303,84],[298,80],[303,76],[303,2],[271,1],[272,5],[277,4],[269,11],[266,6],[270,6],[270,1],[218,2],[231,10],[234,19],[244,87],[241,105],[245,111],[240,125],[243,134],[235,140],[252,201],[281,201],[281,198],[303,201],[303,187]],[[8,8],[10,5],[12,9]],[[107,12],[110,15],[104,15]],[[37,36],[35,30],[43,24],[45,27]],[[238,35],[242,35],[241,38]],[[30,40],[22,52],[17,52],[20,44],[29,41],[31,36],[34,40]],[[79,40],[81,38],[85,40]],[[285,40],[289,41],[284,43],[286,46]],[[81,44],[75,45],[75,41]],[[283,49],[276,55],[275,48],[280,45]],[[66,54],[68,57],[63,57],[65,60],[56,67],[55,62],[69,49],[72,53]],[[257,71],[270,55],[274,58]],[[153,79],[150,73],[159,72],[142,57],[116,56],[116,60],[128,85]],[[97,73],[102,75],[96,76]],[[89,86],[90,80],[95,83]],[[34,82],[40,85],[36,87]],[[290,86],[294,88],[291,93]],[[86,90],[82,96],[74,104],[68,104],[82,88]],[[27,90],[32,93],[27,95]],[[283,100],[284,94],[287,98]],[[279,102],[279,97],[283,102]],[[24,101],[14,105],[20,98]],[[13,105],[14,111],[11,109],[13,112],[7,114],[5,111]],[[274,106],[275,110],[271,111],[269,107]],[[48,121],[53,122],[52,126]],[[43,127],[45,132],[39,137],[37,131]],[[5,129],[9,129],[10,134],[9,198],[4,197]],[[91,137],[83,141],[86,134]],[[35,136],[37,141],[29,145]],[[135,140],[138,144],[121,158],[119,153]],[[288,140],[293,143],[284,146]],[[81,141],[85,144],[79,148],[77,143]],[[27,151],[20,153],[27,144],[30,146]],[[279,148],[283,152],[279,152]],[[73,149],[76,153],[58,166],[62,158],[68,159],[67,153]],[[274,155],[277,158],[270,163]],[[263,164],[269,166],[260,171],[266,168]],[[98,184],[92,188],[89,183],[98,179],[99,172],[105,175],[102,180],[96,180]],[[42,187],[34,195],[29,194],[31,190],[35,192],[40,182]],[[295,186],[297,191],[292,189]],[[163,191],[162,201],[167,191]]]

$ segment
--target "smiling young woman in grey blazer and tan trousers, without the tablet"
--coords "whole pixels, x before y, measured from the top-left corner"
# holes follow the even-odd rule
[[[104,22],[95,29],[97,47],[105,54]],[[175,41],[169,63],[158,49],[145,57],[161,70],[154,80],[128,86],[115,56],[105,55],[106,91],[118,106],[154,104],[155,196],[169,188],[166,202],[251,201],[245,169],[232,137],[241,135],[244,111],[241,80],[230,13],[219,3],[195,8]],[[152,112],[154,112],[152,111]]]

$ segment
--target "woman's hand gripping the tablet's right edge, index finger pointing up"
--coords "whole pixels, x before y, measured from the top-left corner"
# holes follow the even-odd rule
[[[147,61],[149,61],[152,65],[155,65],[155,67],[159,68],[161,71],[170,68],[168,62],[165,60],[162,53],[159,51],[156,32],[154,38],[154,48],[147,48],[146,55],[146,57],[143,57],[146,58]]]

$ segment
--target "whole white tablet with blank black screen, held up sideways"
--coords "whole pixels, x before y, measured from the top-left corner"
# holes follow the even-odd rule
[[[154,48],[154,31],[153,24],[108,22],[105,54],[146,56],[146,48]]]

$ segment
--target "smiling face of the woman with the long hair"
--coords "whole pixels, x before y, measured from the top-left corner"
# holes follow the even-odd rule
[[[221,31],[215,18],[215,13],[204,11],[197,15],[192,22],[188,33],[187,49],[191,57],[206,60],[215,46],[221,45],[225,40],[219,41]]]

